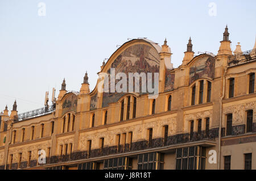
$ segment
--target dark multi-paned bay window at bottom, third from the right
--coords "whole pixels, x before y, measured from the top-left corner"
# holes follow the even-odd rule
[[[131,170],[133,159],[129,157],[119,157],[104,160],[104,170]]]

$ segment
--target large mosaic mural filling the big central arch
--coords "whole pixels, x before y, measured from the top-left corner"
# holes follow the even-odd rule
[[[131,47],[125,49],[121,54],[119,54],[119,56],[112,63],[111,68],[115,68],[115,75],[119,72],[125,73],[127,76],[127,83],[129,82],[128,73],[152,73],[152,85],[154,85],[154,73],[159,73],[159,62],[159,54],[154,48],[145,44],[137,44],[132,45]],[[110,69],[108,70],[108,74],[110,75]],[[119,80],[115,81],[115,85],[118,81]],[[141,86],[142,83],[140,81],[139,87]],[[128,87],[129,86],[127,85],[127,89]],[[123,96],[124,94],[125,93],[123,92],[104,92],[102,107],[107,107],[108,104],[117,102],[117,100],[121,98],[121,96]],[[140,94],[146,93],[142,93],[140,91]]]

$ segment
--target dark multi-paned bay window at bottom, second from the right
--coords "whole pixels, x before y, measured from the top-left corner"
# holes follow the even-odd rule
[[[138,170],[163,170],[163,153],[145,153],[138,155]]]

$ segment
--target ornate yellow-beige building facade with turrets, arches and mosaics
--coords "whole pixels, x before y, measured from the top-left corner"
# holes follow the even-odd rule
[[[228,27],[220,43],[217,55],[194,56],[189,39],[172,68],[166,40],[133,39],[102,64],[99,75],[158,73],[155,97],[102,91],[118,81],[101,76],[90,91],[86,73],[79,92],[64,79],[52,106],[18,114],[15,101],[10,115],[6,106],[0,169],[256,169],[256,43],[232,52]]]

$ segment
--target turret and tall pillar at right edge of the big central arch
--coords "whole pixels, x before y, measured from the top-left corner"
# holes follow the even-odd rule
[[[164,81],[166,77],[166,69],[172,70],[173,64],[171,63],[171,48],[167,45],[167,40],[164,40],[162,50],[159,53],[160,56],[160,68],[159,68],[159,92],[164,91]]]

